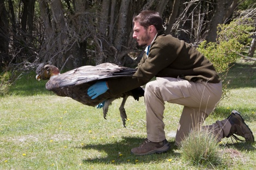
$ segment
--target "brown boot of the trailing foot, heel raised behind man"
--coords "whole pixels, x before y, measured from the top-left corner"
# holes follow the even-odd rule
[[[254,136],[251,129],[245,123],[245,120],[242,118],[239,112],[233,110],[231,115],[228,117],[228,120],[231,124],[231,129],[227,137],[234,137],[236,140],[240,140],[236,135],[242,136],[245,138],[246,142],[254,142]]]

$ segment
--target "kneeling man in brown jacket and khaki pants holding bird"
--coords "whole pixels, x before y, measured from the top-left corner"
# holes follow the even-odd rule
[[[98,81],[88,89],[88,95],[93,99],[107,90],[115,95],[147,84],[144,94],[147,139],[131,152],[162,153],[170,148],[164,133],[164,102],[184,105],[175,137],[175,144],[180,146],[188,133],[214,110],[222,96],[222,83],[213,64],[203,54],[184,41],[164,34],[158,12],[142,11],[133,18],[133,23],[133,38],[139,46],[147,46],[135,77]],[[153,77],[156,80],[150,81]],[[237,134],[254,142],[252,131],[236,111],[208,128],[219,140]]]

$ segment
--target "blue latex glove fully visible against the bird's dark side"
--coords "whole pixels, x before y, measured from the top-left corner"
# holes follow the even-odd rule
[[[94,85],[90,86],[87,90],[87,95],[95,99],[108,90],[106,81],[97,81]]]

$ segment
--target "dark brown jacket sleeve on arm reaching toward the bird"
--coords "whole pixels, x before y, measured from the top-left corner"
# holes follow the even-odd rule
[[[176,58],[176,51],[179,50],[176,48],[179,46],[169,48],[168,42],[170,41],[163,37],[160,41],[156,39],[151,44],[149,55],[143,55],[138,64],[138,70],[133,74],[134,77],[108,80],[110,93],[116,95],[145,85],[163,68],[170,65]]]

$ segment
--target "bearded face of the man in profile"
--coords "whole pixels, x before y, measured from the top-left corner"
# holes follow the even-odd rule
[[[135,22],[133,31],[132,37],[133,39],[136,39],[138,46],[144,47],[150,45],[151,42],[149,42],[150,36],[148,34],[148,29],[142,27],[138,22]]]

